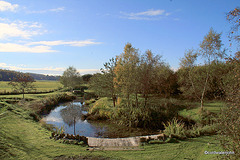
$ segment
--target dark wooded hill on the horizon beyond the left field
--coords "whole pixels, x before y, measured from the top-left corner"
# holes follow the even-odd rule
[[[11,81],[18,74],[22,74],[22,72],[0,69],[0,81]],[[49,76],[49,75],[36,74],[36,73],[28,73],[28,74],[32,76],[35,80],[57,81],[60,79],[60,76]]]

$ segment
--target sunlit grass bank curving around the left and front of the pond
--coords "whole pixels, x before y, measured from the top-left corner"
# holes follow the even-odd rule
[[[51,132],[30,116],[39,103],[49,95],[27,95],[32,98],[28,105],[17,106],[0,103],[0,159],[53,159],[59,156],[81,156],[98,159],[216,159],[204,151],[221,151],[216,136],[190,138],[180,143],[146,144],[144,151],[86,151],[80,145],[63,144],[49,139]],[[10,95],[9,95],[10,96]],[[7,99],[15,98],[7,97]],[[15,95],[16,96],[16,95]],[[17,95],[18,96],[18,95]],[[20,96],[21,97],[21,96]],[[37,103],[35,103],[37,104]],[[98,158],[97,158],[98,157]]]

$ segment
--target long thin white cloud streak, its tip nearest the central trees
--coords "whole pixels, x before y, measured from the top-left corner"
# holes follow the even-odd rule
[[[27,45],[47,45],[47,46],[58,46],[58,45],[69,45],[75,47],[84,47],[87,45],[101,44],[101,42],[94,42],[92,39],[83,40],[83,41],[39,41],[31,42]]]

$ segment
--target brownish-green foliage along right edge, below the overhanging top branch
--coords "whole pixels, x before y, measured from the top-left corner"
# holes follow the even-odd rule
[[[234,151],[229,159],[240,158],[240,52],[228,63],[233,66],[231,90],[228,90],[228,107],[223,109],[219,117],[220,141],[224,149]]]

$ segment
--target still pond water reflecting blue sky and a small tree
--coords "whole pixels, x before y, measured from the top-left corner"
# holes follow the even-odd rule
[[[86,137],[118,138],[157,134],[156,131],[120,126],[109,121],[82,120],[82,114],[87,114],[84,103],[73,101],[60,104],[45,115],[43,120],[57,128],[64,127],[64,133]]]

